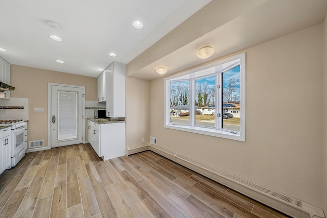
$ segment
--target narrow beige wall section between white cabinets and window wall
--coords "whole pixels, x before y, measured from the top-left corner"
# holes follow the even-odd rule
[[[150,142],[150,82],[126,78],[126,146]]]

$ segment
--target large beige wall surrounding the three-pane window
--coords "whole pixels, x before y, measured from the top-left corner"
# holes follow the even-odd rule
[[[160,147],[322,208],[321,45],[319,25],[241,51],[246,142],[165,129],[164,78],[150,83],[150,135]]]

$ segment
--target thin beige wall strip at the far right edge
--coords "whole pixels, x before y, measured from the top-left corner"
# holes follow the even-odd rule
[[[323,23],[323,196],[324,196],[324,211],[327,215],[327,15]]]

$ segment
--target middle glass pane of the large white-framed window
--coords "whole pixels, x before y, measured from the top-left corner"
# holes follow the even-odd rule
[[[195,80],[195,125],[216,127],[216,76]]]

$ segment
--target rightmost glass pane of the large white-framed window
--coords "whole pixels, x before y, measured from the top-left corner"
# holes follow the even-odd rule
[[[240,132],[240,65],[223,73],[222,128]]]

